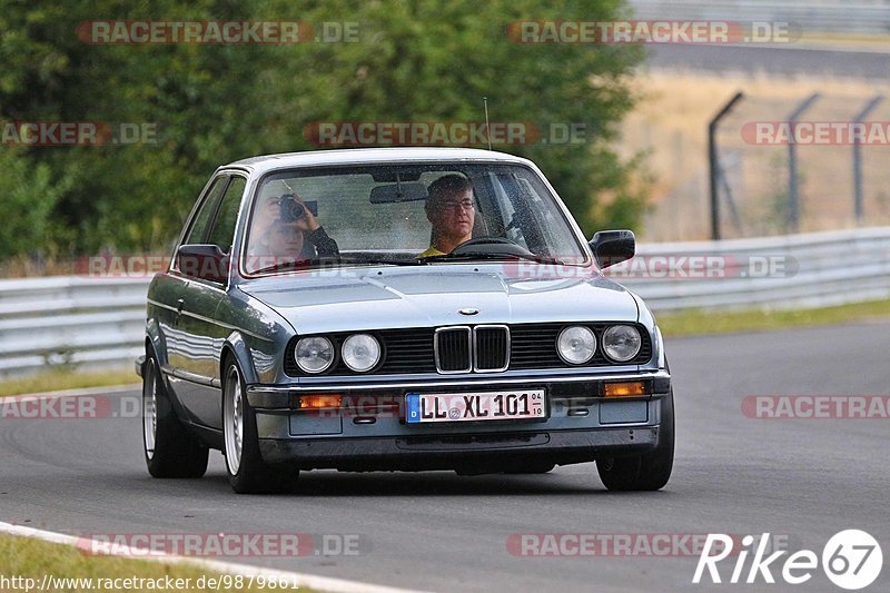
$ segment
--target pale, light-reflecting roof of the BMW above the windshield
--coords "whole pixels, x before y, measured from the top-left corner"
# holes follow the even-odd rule
[[[309,150],[306,152],[283,152],[264,155],[230,162],[220,169],[239,168],[263,174],[271,169],[289,167],[312,167],[320,165],[368,165],[375,162],[423,161],[423,160],[473,160],[500,161],[532,165],[522,157],[479,150],[475,148],[356,148],[340,150]]]

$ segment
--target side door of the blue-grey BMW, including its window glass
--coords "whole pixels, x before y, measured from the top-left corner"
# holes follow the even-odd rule
[[[229,177],[207,235],[200,243],[216,245],[226,254],[231,253],[235,225],[246,186],[245,177]],[[233,330],[230,325],[216,318],[216,310],[224,298],[225,280],[189,276],[178,325],[184,346],[180,348],[178,375],[188,382],[188,385],[181,385],[180,402],[200,424],[215,428],[222,427],[219,355]]]

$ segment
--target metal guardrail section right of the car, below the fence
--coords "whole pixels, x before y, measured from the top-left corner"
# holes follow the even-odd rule
[[[666,256],[709,256],[724,266],[710,278],[615,278],[656,313],[824,307],[890,298],[890,227],[650,244],[640,246],[636,258]],[[772,263],[777,269],[770,269]],[[650,264],[653,268],[661,269]]]

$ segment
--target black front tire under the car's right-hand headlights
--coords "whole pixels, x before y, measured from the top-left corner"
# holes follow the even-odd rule
[[[613,491],[661,490],[671,478],[674,465],[674,394],[663,399],[659,444],[653,451],[633,457],[596,459],[596,471],[605,487]]]

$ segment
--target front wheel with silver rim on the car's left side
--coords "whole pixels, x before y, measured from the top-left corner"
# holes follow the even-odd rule
[[[296,486],[299,471],[263,461],[257,437],[256,413],[247,402],[244,374],[228,357],[222,374],[222,454],[231,488],[238,494],[279,494]],[[236,403],[238,402],[238,403]],[[236,412],[240,408],[240,422]],[[240,446],[236,446],[240,431]]]

